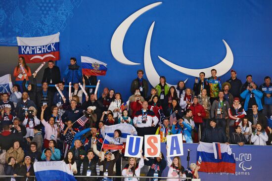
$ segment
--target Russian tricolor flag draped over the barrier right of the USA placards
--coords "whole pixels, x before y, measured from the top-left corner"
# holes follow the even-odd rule
[[[197,158],[201,159],[200,172],[235,174],[235,159],[229,145],[225,143],[200,142]]]

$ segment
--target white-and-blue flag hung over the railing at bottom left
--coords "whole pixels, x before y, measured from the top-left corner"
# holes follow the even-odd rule
[[[76,181],[64,161],[35,162],[34,172],[36,181]]]

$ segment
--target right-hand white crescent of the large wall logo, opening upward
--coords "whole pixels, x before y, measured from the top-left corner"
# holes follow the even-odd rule
[[[164,59],[161,56],[158,56],[159,59],[161,61],[163,61],[166,65],[172,67],[173,69],[176,69],[177,71],[193,76],[193,77],[198,77],[200,72],[205,72],[206,76],[207,75],[211,75],[211,69],[216,69],[217,70],[217,76],[222,76],[224,74],[227,73],[227,71],[229,71],[229,69],[232,67],[233,65],[233,54],[232,51],[230,49],[230,47],[227,45],[227,42],[225,42],[225,40],[222,40],[224,42],[224,45],[226,47],[227,53],[225,58],[218,63],[217,65],[214,65],[212,67],[208,67],[208,68],[204,68],[204,69],[189,69],[189,68],[185,68],[185,67],[181,67],[179,65],[176,65],[166,59]]]

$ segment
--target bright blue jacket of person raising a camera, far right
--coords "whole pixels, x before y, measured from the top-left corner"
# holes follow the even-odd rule
[[[252,93],[254,93],[254,95],[255,95],[255,100],[256,100],[256,103],[257,103],[258,108],[259,108],[258,110],[259,111],[262,110],[263,109],[263,105],[262,105],[263,92],[261,92],[260,90],[252,90]],[[241,95],[241,97],[243,99],[245,99],[244,110],[247,111],[251,91],[245,90],[240,95]]]

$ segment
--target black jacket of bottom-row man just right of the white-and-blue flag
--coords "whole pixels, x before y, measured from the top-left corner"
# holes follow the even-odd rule
[[[91,176],[97,176],[96,174],[96,163],[97,159],[92,159],[91,162],[89,163],[89,160],[85,159],[82,164],[83,164],[83,170],[82,170],[82,176],[87,175],[87,170],[91,170]],[[90,168],[89,168],[90,167]],[[84,181],[96,181],[96,178],[84,178]]]

